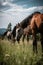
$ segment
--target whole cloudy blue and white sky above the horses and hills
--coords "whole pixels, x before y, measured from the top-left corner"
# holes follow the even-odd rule
[[[0,0],[0,28],[12,28],[35,11],[43,13],[43,0]]]

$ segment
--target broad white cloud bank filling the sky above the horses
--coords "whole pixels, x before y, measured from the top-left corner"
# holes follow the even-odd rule
[[[4,15],[1,19],[1,25],[0,27],[7,27],[8,23],[11,22],[12,26],[16,25],[18,22],[21,22],[24,18],[26,18],[28,15],[30,15],[34,11],[39,11],[43,9],[43,6],[36,6],[31,8],[24,8],[23,6],[19,6],[16,4],[12,4],[9,2],[4,2],[3,6],[9,5],[11,8],[8,10],[3,11]]]

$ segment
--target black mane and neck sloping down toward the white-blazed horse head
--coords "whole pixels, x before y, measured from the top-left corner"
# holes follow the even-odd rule
[[[33,15],[35,15],[36,13],[41,14],[39,11],[36,11],[34,13],[32,13],[31,15],[27,16],[23,21],[20,22],[20,25],[22,28],[27,27],[28,24],[30,24],[30,20],[33,17]]]

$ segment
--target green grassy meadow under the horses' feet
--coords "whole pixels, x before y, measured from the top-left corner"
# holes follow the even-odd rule
[[[14,43],[0,39],[0,65],[43,65],[41,44],[38,41],[38,54],[33,55],[32,40],[29,43]]]

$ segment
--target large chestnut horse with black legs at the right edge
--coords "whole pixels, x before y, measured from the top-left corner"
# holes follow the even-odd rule
[[[33,51],[37,53],[37,39],[36,34],[41,34],[41,46],[42,46],[42,52],[43,52],[43,14],[35,14],[30,22],[30,28],[32,30],[33,35]]]

